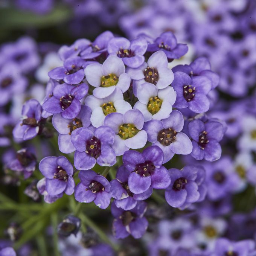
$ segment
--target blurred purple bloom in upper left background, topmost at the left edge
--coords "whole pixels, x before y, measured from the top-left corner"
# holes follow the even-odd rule
[[[17,64],[21,73],[34,70],[40,62],[35,41],[22,37],[16,43],[4,44],[0,49],[0,67],[8,62]]]

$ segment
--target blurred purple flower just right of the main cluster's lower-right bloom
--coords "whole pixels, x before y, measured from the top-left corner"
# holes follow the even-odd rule
[[[204,164],[206,171],[207,196],[216,201],[236,191],[239,177],[234,172],[232,160],[225,156],[214,163]]]

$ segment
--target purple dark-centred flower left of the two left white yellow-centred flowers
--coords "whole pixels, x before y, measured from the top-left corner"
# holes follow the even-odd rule
[[[87,84],[72,86],[59,84],[53,89],[53,96],[43,104],[43,109],[49,113],[61,113],[63,118],[73,119],[81,110],[80,100],[88,92]]]

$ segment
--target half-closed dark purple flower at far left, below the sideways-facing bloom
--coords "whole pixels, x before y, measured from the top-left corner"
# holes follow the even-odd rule
[[[17,158],[7,164],[7,167],[13,171],[23,172],[24,179],[29,178],[35,171],[37,159],[34,154],[27,151],[26,148],[17,151]]]

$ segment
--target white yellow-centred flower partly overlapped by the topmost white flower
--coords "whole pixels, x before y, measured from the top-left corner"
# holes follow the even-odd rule
[[[124,114],[126,111],[132,109],[130,103],[123,100],[123,94],[119,88],[116,88],[110,96],[103,99],[89,95],[85,98],[84,103],[92,111],[91,124],[96,128],[104,125],[105,117],[108,114],[113,112]]]

